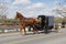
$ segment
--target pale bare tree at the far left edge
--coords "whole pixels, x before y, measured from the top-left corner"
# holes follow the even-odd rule
[[[7,10],[8,8],[3,3],[0,3],[0,19],[7,19]]]

